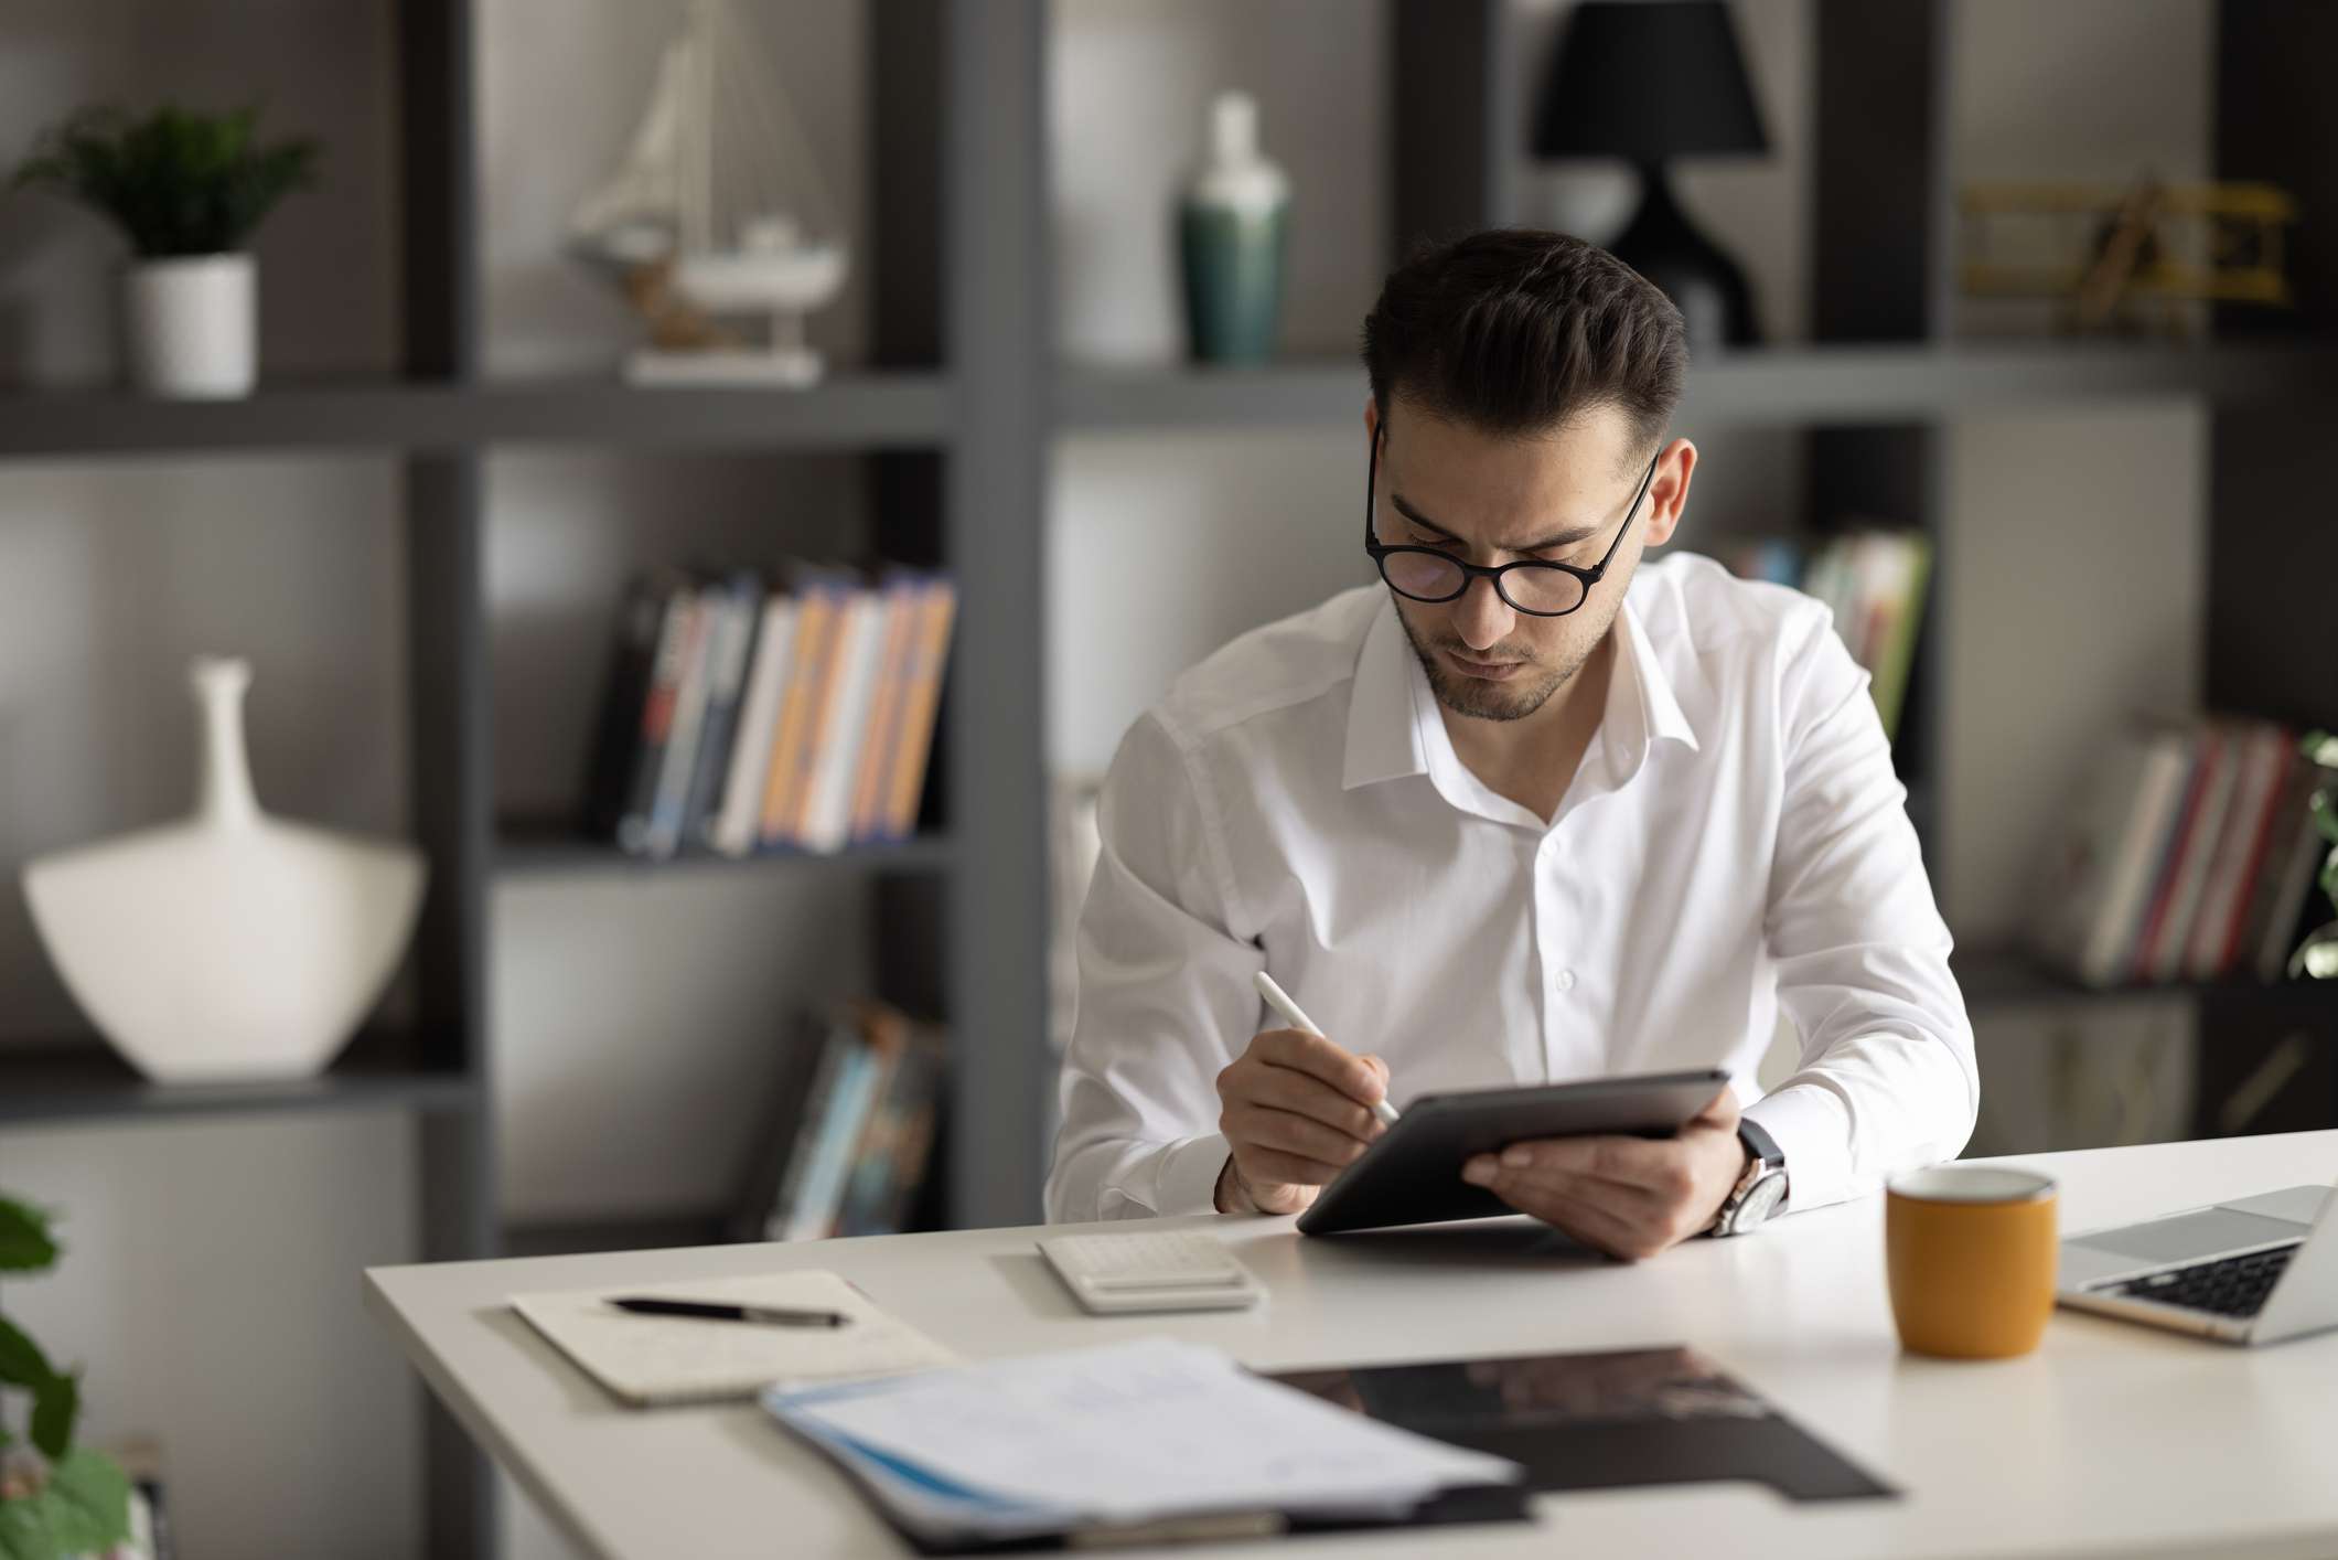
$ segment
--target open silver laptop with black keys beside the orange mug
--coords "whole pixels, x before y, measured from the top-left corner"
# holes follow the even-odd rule
[[[2338,1197],[2329,1186],[2216,1202],[2062,1242],[2057,1298],[2223,1342],[2338,1326]]]

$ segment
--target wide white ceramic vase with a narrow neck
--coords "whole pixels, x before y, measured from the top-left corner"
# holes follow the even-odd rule
[[[187,821],[23,870],[65,989],[164,1083],[323,1071],[381,999],[421,905],[416,851],[260,812],[250,678],[243,662],[194,662],[203,767]]]

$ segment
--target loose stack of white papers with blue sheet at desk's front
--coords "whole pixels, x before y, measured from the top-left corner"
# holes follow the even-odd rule
[[[1181,1518],[1396,1520],[1515,1462],[1347,1413],[1167,1338],[762,1394],[921,1544]]]

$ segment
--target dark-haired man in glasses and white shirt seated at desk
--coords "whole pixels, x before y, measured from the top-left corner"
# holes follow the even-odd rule
[[[1050,1216],[1288,1214],[1384,1090],[1693,1067],[1735,1088],[1674,1139],[1464,1179],[1641,1258],[1952,1158],[1973,1038],[1866,674],[1807,596],[1641,568],[1697,468],[1679,311],[1487,232],[1389,276],[1363,360],[1379,582],[1178,678],[1106,779]],[[1800,1069],[1739,1116],[1779,1013]]]

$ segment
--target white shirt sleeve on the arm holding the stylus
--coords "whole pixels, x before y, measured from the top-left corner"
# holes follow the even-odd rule
[[[1234,924],[1209,798],[1157,716],[1104,781],[1097,875],[1080,912],[1080,994],[1064,1052],[1047,1219],[1216,1207],[1218,1074],[1251,1038],[1265,961]]]

